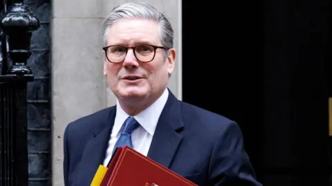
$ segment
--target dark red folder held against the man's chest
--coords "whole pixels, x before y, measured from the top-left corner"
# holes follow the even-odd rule
[[[198,186],[128,146],[116,149],[100,186]]]

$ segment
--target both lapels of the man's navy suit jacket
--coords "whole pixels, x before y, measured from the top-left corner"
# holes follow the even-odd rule
[[[91,184],[95,172],[105,158],[109,136],[116,118],[116,106],[108,108],[107,113],[107,117],[100,118],[100,124],[96,125],[95,129],[91,131],[91,140],[87,142],[84,149],[80,172],[77,176],[79,185],[89,186]],[[181,142],[182,136],[178,134],[178,131],[183,126],[180,102],[169,91],[167,102],[158,120],[147,156],[169,168]]]

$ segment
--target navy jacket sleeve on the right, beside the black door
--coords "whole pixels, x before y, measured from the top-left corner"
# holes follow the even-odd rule
[[[236,122],[221,129],[210,161],[211,185],[261,186],[244,150],[243,136]]]

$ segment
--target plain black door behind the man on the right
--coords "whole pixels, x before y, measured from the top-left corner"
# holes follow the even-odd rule
[[[328,183],[327,3],[183,1],[183,100],[239,123],[264,185]]]

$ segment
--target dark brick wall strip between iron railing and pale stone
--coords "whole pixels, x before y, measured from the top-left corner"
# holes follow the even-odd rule
[[[50,0],[26,0],[40,28],[33,32],[28,66],[35,81],[28,83],[28,171],[30,186],[51,184],[50,130]]]

